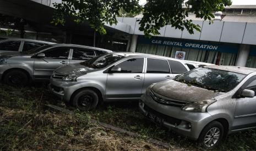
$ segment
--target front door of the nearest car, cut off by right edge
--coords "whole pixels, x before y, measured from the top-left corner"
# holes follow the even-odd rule
[[[238,90],[238,95],[242,90],[253,90],[256,94],[256,75],[251,77]],[[233,129],[246,129],[248,127],[256,127],[256,96],[235,98],[236,111]]]

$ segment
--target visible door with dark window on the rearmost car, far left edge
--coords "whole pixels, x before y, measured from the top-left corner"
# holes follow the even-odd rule
[[[20,40],[3,40],[0,42],[0,53],[18,52],[20,47],[22,47]]]

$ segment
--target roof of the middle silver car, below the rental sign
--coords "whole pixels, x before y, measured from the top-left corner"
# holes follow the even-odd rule
[[[112,53],[112,54],[116,54],[116,55],[121,55],[121,56],[138,56],[138,57],[156,57],[159,59],[168,59],[168,60],[175,60],[175,61],[180,61],[183,62],[183,60],[178,60],[178,59],[173,59],[171,57],[165,57],[165,56],[158,56],[158,55],[151,55],[151,54],[143,54],[143,53],[128,53],[128,52],[116,52],[116,53]],[[184,62],[183,62],[184,63]]]

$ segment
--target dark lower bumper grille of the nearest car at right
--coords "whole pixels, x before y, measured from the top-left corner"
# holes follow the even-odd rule
[[[146,112],[154,114],[154,115],[156,115],[156,117],[159,117],[161,119],[164,119],[164,121],[166,121],[167,123],[170,123],[172,125],[179,125],[179,124],[181,124],[181,120],[180,119],[169,117],[168,115],[165,115],[165,114],[162,114],[160,112],[157,112],[154,109],[151,109],[150,107],[148,107],[146,104],[144,105],[144,109],[145,109]]]

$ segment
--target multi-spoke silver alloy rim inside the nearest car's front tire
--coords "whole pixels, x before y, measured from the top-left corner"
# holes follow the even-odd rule
[[[220,138],[220,129],[217,127],[211,128],[204,137],[204,144],[206,147],[214,146]]]

